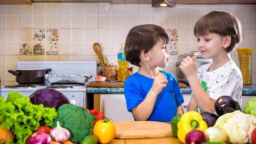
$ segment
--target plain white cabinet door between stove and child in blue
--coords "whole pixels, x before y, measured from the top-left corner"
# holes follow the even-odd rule
[[[124,94],[100,94],[100,108],[112,122],[134,121],[132,113],[127,110]]]

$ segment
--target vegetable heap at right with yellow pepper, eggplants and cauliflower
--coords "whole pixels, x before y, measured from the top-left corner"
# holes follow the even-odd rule
[[[234,98],[221,96],[215,103],[218,115],[212,112],[186,112],[182,116],[174,116],[172,132],[186,144],[256,144],[255,101],[256,98],[251,98],[241,112],[240,104]]]

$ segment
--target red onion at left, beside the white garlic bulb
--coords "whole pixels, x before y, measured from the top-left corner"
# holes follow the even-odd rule
[[[45,132],[34,132],[28,137],[26,144],[52,144],[52,139]]]

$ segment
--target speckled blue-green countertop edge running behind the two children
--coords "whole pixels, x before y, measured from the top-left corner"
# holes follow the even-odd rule
[[[182,94],[191,94],[191,88],[181,88]],[[124,88],[86,88],[87,93],[102,93],[102,94],[123,94]],[[256,94],[256,84],[244,85],[242,94]]]

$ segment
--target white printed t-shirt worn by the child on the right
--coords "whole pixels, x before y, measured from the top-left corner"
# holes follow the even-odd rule
[[[242,98],[242,73],[233,60],[230,60],[222,67],[212,72],[207,72],[212,65],[204,64],[200,66],[197,76],[201,85],[206,82],[207,87],[204,88],[210,98],[217,100],[220,96],[232,96],[240,104]]]

